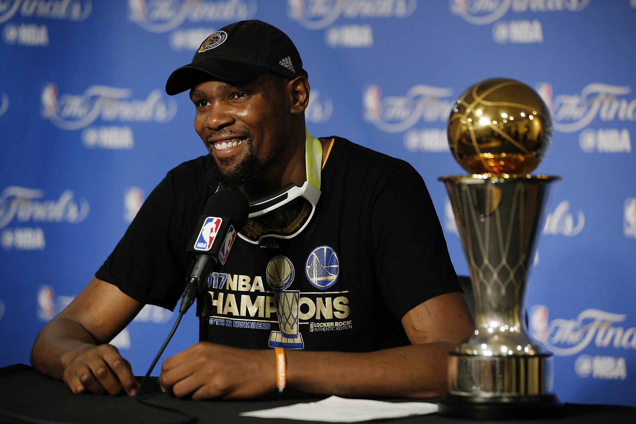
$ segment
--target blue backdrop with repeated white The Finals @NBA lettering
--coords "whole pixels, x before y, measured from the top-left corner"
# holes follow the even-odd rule
[[[570,402],[636,406],[636,0],[0,0],[0,366],[106,259],[151,189],[205,154],[165,80],[212,32],[283,29],[312,87],[307,126],[410,161],[467,274],[440,175],[452,102],[497,76],[553,114],[536,172],[562,175],[530,279],[530,327]],[[176,315],[114,341],[144,374]],[[197,341],[188,317],[166,355]],[[166,357],[166,356],[164,356]]]

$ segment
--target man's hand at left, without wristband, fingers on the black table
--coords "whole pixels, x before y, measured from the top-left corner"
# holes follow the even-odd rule
[[[64,383],[73,393],[92,392],[117,395],[121,389],[130,396],[137,394],[139,383],[127,360],[113,345],[83,345],[64,353]]]

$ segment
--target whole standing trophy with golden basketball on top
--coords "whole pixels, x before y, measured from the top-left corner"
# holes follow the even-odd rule
[[[471,273],[476,328],[450,354],[439,413],[515,418],[558,412],[552,354],[530,338],[524,297],[544,206],[560,177],[530,175],[551,142],[550,112],[529,86],[495,78],[464,92],[448,143],[471,175],[441,177]]]

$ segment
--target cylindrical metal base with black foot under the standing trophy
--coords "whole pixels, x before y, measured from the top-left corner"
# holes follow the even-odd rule
[[[562,416],[563,404],[550,393],[551,356],[451,353],[450,392],[438,413],[491,420]]]

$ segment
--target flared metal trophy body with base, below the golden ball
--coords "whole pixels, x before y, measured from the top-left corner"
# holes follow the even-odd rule
[[[443,177],[471,273],[476,328],[450,354],[439,413],[553,415],[552,354],[530,338],[524,299],[550,183],[543,175]]]

